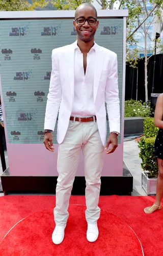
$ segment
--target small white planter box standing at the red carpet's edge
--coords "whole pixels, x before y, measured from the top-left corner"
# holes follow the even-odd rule
[[[149,178],[147,173],[148,171],[142,171],[142,188],[147,195],[155,195],[157,178]]]

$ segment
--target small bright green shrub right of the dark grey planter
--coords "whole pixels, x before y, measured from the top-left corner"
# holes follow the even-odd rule
[[[156,137],[158,134],[158,127],[155,127],[154,118],[147,117],[144,120],[144,136],[146,138]]]

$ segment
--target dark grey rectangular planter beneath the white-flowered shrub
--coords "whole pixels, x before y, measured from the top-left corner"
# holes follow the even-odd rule
[[[125,117],[124,118],[124,135],[143,134],[144,117]]]

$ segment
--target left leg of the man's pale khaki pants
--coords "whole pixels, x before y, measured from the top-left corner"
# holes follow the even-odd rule
[[[59,145],[57,170],[59,173],[56,188],[55,222],[66,224],[71,190],[82,148],[81,123],[70,121],[64,141]]]

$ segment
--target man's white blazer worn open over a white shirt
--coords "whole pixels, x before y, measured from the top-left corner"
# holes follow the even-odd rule
[[[58,116],[57,141],[61,144],[68,129],[74,98],[75,43],[52,50],[52,71],[44,130],[54,130]],[[106,109],[110,131],[120,133],[117,55],[96,44],[94,63],[94,104],[102,144],[106,142]]]

